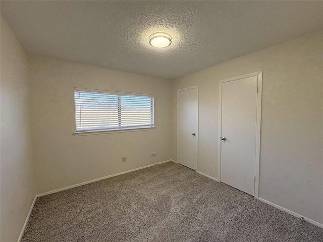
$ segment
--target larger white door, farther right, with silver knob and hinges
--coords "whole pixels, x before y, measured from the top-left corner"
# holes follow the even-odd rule
[[[222,83],[221,181],[254,196],[257,76]]]

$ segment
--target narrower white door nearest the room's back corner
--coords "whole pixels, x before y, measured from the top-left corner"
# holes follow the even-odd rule
[[[178,156],[180,164],[197,168],[197,87],[178,90]]]

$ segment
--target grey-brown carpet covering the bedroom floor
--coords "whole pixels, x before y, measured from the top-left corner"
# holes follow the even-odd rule
[[[168,162],[37,198],[26,241],[323,241],[323,229]]]

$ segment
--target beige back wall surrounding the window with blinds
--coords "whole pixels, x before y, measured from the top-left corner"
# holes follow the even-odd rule
[[[170,159],[171,81],[30,55],[39,192]],[[74,87],[154,94],[155,130],[74,136]],[[156,157],[149,158],[149,152]],[[126,162],[122,157],[126,156]]]

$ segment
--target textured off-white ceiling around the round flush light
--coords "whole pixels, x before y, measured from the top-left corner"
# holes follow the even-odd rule
[[[323,28],[322,1],[1,1],[28,53],[173,79]],[[156,49],[150,34],[172,45]]]

